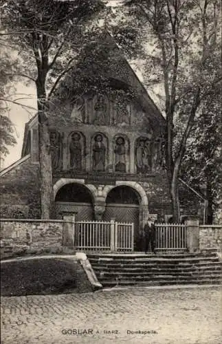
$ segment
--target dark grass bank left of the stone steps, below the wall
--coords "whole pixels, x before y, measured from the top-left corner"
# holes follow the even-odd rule
[[[82,267],[74,259],[38,258],[1,262],[1,296],[79,292]]]

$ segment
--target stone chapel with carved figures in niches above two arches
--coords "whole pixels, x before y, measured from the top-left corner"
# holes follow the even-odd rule
[[[111,54],[118,50],[110,37],[109,49]],[[74,102],[63,99],[63,116],[56,116],[60,105],[51,109],[56,219],[70,214],[78,220],[115,218],[134,222],[135,228],[141,228],[149,214],[167,221],[164,117],[123,56],[111,74],[115,85],[130,83],[137,98],[127,101],[90,91]],[[0,192],[1,217],[41,217],[37,116],[25,125],[21,159],[1,171]],[[197,215],[200,198],[184,185],[181,194],[181,214]]]

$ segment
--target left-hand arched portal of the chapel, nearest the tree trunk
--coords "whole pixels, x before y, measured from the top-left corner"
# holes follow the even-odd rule
[[[93,219],[93,196],[87,186],[69,183],[56,193],[55,206],[57,218],[75,215],[77,221]]]

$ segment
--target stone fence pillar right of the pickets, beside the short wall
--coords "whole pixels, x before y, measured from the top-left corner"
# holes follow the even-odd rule
[[[188,252],[197,252],[199,251],[199,219],[188,219],[185,224]]]

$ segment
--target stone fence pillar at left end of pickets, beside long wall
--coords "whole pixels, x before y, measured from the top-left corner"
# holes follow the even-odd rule
[[[63,217],[63,246],[74,250],[75,248],[75,215]]]

